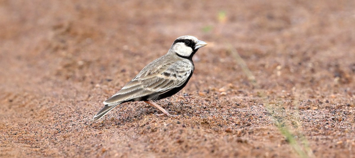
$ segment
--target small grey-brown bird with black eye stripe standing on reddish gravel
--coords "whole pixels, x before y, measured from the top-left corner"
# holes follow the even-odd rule
[[[105,100],[104,107],[92,118],[92,122],[102,118],[117,105],[134,101],[144,101],[162,111],[157,116],[178,116],[171,115],[153,101],[170,97],[186,86],[195,70],[192,56],[206,45],[206,42],[193,36],[175,39],[168,53],[149,63],[121,90]]]

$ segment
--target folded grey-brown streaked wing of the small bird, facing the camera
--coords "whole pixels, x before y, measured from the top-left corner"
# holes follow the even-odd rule
[[[180,87],[193,71],[193,65],[189,62],[176,61],[155,67],[147,65],[119,92],[105,100],[104,104],[110,106],[155,93],[162,94],[175,87]]]

